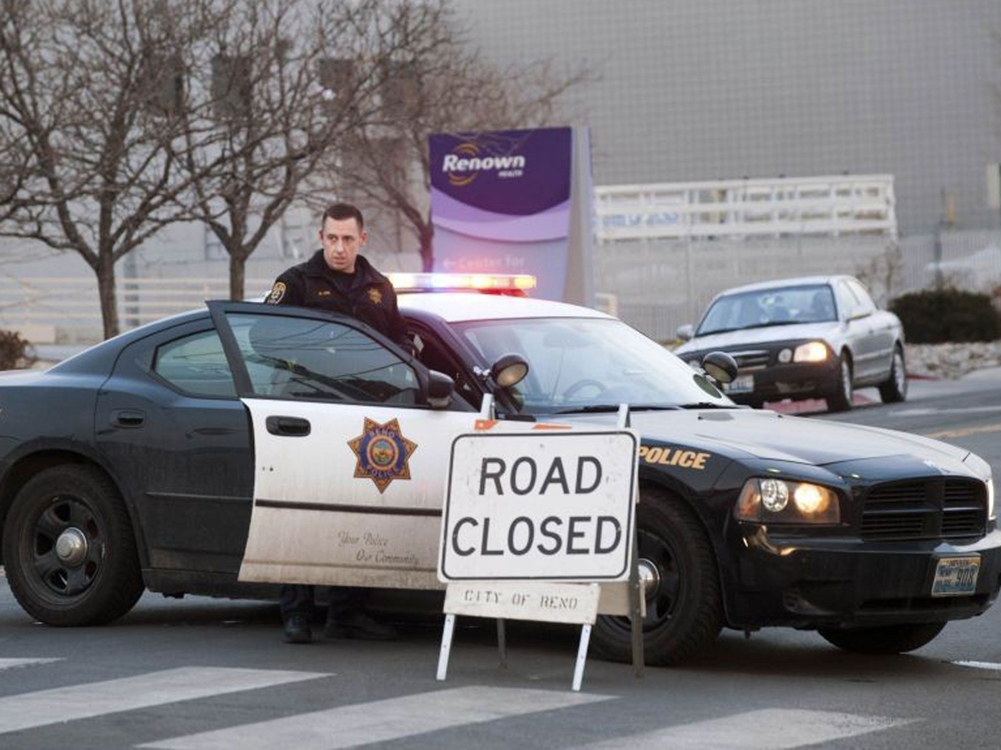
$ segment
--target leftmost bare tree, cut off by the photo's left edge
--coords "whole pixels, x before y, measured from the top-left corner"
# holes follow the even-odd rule
[[[0,7],[0,235],[78,253],[118,332],[117,260],[184,214],[171,144],[185,56],[222,0],[9,0]]]

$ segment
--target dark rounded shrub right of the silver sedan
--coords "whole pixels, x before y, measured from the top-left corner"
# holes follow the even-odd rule
[[[988,294],[960,289],[927,289],[897,297],[890,310],[914,344],[994,341],[1001,338],[1001,315]]]

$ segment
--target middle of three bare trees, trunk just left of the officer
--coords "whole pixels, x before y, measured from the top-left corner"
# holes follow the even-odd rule
[[[373,84],[337,80],[337,65],[377,53],[364,32],[378,9],[378,0],[243,0],[191,66],[177,154],[191,189],[178,202],[228,254],[231,298],[243,297],[247,259],[302,181],[366,117]]]

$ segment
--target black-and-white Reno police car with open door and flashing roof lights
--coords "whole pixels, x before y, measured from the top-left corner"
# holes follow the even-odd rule
[[[969,451],[740,408],[616,318],[483,293],[510,279],[429,280],[447,289],[400,294],[413,352],[349,318],[212,302],[0,375],[2,554],[24,609],[70,626],[144,588],[436,588],[456,435],[486,417],[614,426],[624,402],[649,661],[773,625],[908,651],[996,598],[994,487]],[[601,654],[630,642],[625,617],[599,619]]]

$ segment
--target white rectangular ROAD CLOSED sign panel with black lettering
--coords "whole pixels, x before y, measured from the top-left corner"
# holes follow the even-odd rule
[[[459,435],[438,578],[628,578],[638,445],[629,430]]]

